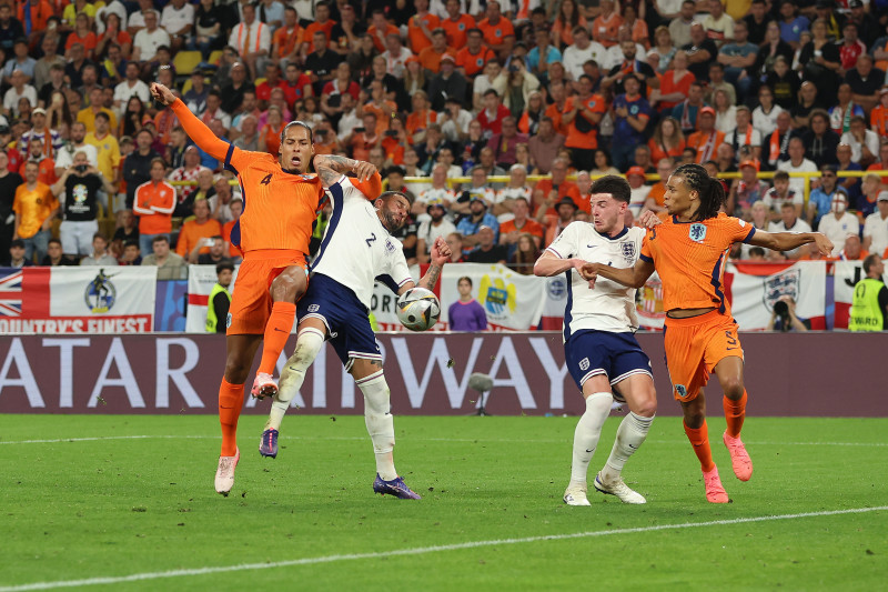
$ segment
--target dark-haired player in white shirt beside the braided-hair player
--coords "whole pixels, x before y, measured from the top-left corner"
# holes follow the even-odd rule
[[[603,177],[593,183],[591,193],[593,222],[571,223],[534,265],[536,275],[567,273],[565,360],[586,400],[586,410],[574,432],[571,482],[564,501],[591,505],[586,472],[616,398],[625,400],[629,413],[619,424],[610,456],[593,485],[625,503],[645,503],[645,498],[620,476],[623,465],[645,441],[657,412],[650,360],[635,339],[635,289],[616,282],[602,285],[599,277],[593,290],[578,273],[587,261],[633,267],[645,231],[623,223],[630,199],[629,184],[624,179]]]

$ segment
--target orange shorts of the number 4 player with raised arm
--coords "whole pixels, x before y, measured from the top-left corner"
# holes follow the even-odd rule
[[[307,275],[309,267],[302,251],[264,249],[246,252],[231,292],[226,334],[265,332],[271,315],[271,282],[291,265],[304,269]]]

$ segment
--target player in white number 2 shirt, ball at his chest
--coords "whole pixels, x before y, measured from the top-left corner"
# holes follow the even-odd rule
[[[259,452],[263,456],[278,455],[278,434],[284,413],[324,341],[330,340],[364,394],[364,420],[376,453],[373,491],[418,500],[420,496],[395,471],[392,456],[395,432],[389,385],[367,317],[376,281],[382,281],[398,295],[416,285],[401,242],[391,235],[404,224],[411,202],[407,195],[397,191],[386,191],[371,202],[342,174],[354,167],[355,161],[343,157],[314,157],[317,175],[332,198],[333,214],[312,264],[309,289],[297,305],[296,350],[281,373],[279,392],[272,401]],[[360,169],[359,172],[377,177],[375,168]],[[450,257],[447,243],[442,238],[436,239],[432,245],[431,265],[418,285],[432,290]]]

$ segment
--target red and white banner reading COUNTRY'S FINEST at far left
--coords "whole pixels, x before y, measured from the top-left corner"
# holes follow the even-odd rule
[[[0,333],[153,330],[158,268],[0,269]]]

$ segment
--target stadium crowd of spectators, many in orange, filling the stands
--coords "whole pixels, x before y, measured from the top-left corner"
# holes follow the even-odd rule
[[[0,264],[238,261],[240,188],[151,81],[244,150],[299,119],[375,164],[415,197],[410,262],[443,237],[532,273],[595,177],[626,175],[632,223],[688,162],[738,173],[756,228],[888,258],[887,24],[860,0],[0,0]]]

